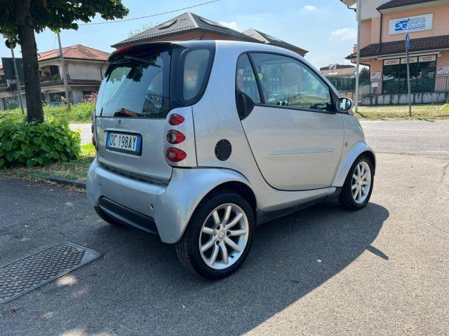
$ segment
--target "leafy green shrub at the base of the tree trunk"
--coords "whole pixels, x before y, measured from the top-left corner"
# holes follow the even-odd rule
[[[25,123],[7,118],[0,123],[0,168],[75,160],[81,155],[80,144],[79,132],[70,130],[67,123],[53,119]]]

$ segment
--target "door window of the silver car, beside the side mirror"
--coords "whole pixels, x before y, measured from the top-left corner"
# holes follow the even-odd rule
[[[251,56],[259,73],[265,104],[334,111],[329,87],[301,62],[262,52]]]

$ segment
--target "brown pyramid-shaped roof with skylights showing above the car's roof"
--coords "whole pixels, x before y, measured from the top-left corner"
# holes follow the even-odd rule
[[[160,25],[142,31],[140,34],[136,34],[135,36],[131,36],[124,41],[112,45],[112,47],[121,48],[125,45],[143,42],[186,40],[248,41],[277,45],[297,52],[301,56],[305,56],[308,52],[296,45],[292,45],[279,38],[262,33],[262,31],[248,29],[241,33],[229,27],[225,27],[219,22],[201,18],[201,16],[189,12],[182,13],[176,18],[167,20]]]

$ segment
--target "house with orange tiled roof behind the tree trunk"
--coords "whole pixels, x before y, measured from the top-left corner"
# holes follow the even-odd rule
[[[76,104],[81,102],[86,95],[98,92],[107,69],[109,54],[77,44],[62,48],[62,55],[65,61],[71,101]],[[61,75],[62,65],[59,50],[40,52],[37,59],[43,103],[61,104],[65,100],[65,87]],[[23,87],[23,83],[20,84]],[[22,99],[25,104],[25,87],[22,88]],[[0,65],[0,109],[15,107],[18,107],[18,91],[15,80],[4,80],[4,69]]]

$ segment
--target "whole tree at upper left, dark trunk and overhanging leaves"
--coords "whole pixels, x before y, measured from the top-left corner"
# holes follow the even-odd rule
[[[0,8],[0,33],[11,36],[22,48],[27,118],[41,122],[41,85],[34,32],[46,28],[78,29],[76,21],[90,22],[96,14],[105,20],[128,14],[121,0],[0,0]]]

